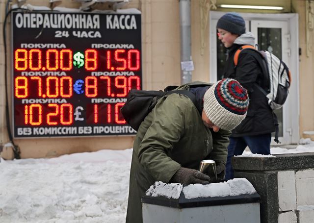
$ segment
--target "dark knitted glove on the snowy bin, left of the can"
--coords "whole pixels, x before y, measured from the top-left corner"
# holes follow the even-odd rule
[[[210,177],[204,173],[201,173],[194,169],[188,169],[181,167],[171,178],[172,183],[182,183],[182,184],[209,184]]]

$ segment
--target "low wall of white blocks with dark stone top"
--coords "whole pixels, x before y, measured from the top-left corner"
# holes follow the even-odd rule
[[[262,198],[261,223],[310,223],[314,219],[314,152],[241,155],[235,177],[248,179]]]

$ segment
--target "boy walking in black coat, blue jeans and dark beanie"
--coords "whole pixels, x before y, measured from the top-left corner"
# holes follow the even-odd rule
[[[260,54],[254,50],[242,50],[238,55],[237,66],[234,63],[236,50],[244,45],[254,46],[255,37],[251,32],[245,32],[244,19],[235,12],[223,15],[216,28],[219,40],[228,49],[223,75],[239,81],[247,89],[250,99],[246,118],[232,131],[228,146],[225,179],[233,179],[231,157],[241,155],[246,147],[252,153],[270,154],[271,132],[276,128],[273,111],[266,97],[255,85],[261,86],[265,91],[269,88],[259,65],[259,60],[262,59]]]

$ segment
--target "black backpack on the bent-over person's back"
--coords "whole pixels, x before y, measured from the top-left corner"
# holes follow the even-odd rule
[[[127,96],[127,102],[121,108],[121,113],[125,121],[137,131],[145,117],[153,110],[157,100],[165,95],[181,94],[187,96],[196,104],[196,98],[188,90],[173,90],[178,86],[168,86],[164,91],[144,91],[131,89]]]

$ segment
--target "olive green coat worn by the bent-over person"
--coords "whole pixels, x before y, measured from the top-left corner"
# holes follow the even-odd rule
[[[141,197],[155,181],[168,183],[180,167],[198,169],[203,159],[226,164],[230,131],[207,128],[199,110],[188,97],[171,94],[159,99],[140,125],[133,145],[127,223],[142,223]]]

